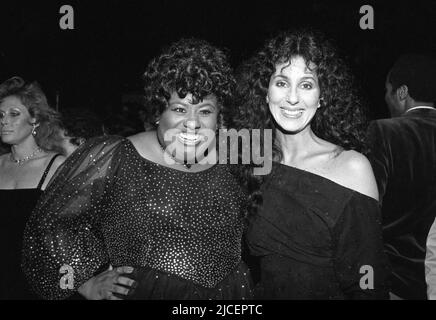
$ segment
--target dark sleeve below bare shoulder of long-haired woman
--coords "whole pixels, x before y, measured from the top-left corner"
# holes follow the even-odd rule
[[[336,222],[333,238],[335,271],[347,298],[388,299],[390,268],[378,202],[355,193]]]

